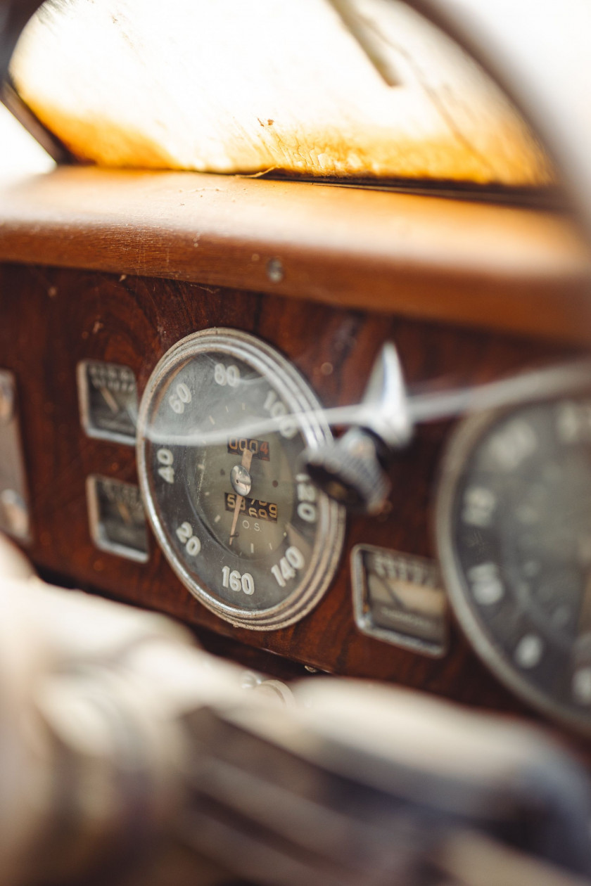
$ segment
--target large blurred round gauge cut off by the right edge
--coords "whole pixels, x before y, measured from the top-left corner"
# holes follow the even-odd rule
[[[509,686],[591,728],[591,400],[469,419],[438,538],[455,610]]]

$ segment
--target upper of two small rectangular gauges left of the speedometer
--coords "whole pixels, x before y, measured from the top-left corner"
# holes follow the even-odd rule
[[[78,364],[82,427],[89,437],[136,443],[137,386],[128,366],[84,360]]]

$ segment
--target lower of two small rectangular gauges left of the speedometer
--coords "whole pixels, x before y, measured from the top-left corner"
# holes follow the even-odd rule
[[[109,477],[86,482],[90,535],[97,548],[138,563],[148,559],[148,533],[139,487]]]

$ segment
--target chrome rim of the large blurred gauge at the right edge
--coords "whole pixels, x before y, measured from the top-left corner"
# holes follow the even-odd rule
[[[574,401],[579,397],[573,398]],[[458,525],[459,496],[470,476],[470,465],[478,455],[478,448],[486,445],[487,439],[495,426],[510,420],[526,408],[558,407],[568,400],[550,400],[542,403],[524,404],[521,407],[488,410],[463,419],[449,440],[440,467],[439,484],[435,502],[435,535],[439,554],[439,565],[445,587],[455,615],[463,628],[473,649],[489,669],[517,696],[531,704],[534,708],[548,716],[560,720],[579,732],[591,734],[591,698],[584,706],[564,701],[556,697],[553,688],[536,685],[532,672],[520,668],[512,660],[507,649],[503,649],[499,636],[495,636],[490,623],[487,624],[470,591],[466,570],[460,562],[460,554],[456,540]],[[587,403],[591,398],[587,396]],[[590,425],[591,428],[591,425]],[[591,438],[587,443],[591,464]],[[510,565],[510,564],[509,564]],[[505,576],[502,575],[504,580]],[[517,619],[517,613],[512,613]],[[572,641],[573,644],[575,641]],[[516,656],[517,658],[517,656]],[[589,669],[591,676],[591,669]]]

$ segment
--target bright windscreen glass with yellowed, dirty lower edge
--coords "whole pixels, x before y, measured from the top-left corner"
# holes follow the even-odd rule
[[[546,185],[539,144],[478,66],[392,0],[50,0],[12,58],[19,96],[107,166]],[[393,80],[391,78],[391,82]]]

